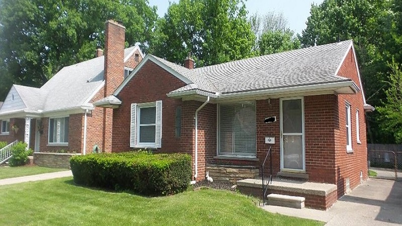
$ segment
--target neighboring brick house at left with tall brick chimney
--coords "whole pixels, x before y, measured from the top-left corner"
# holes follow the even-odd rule
[[[106,22],[105,55],[67,66],[41,88],[13,85],[0,107],[0,141],[25,141],[36,152],[111,151],[112,111],[94,107],[113,93],[144,58],[138,46],[124,49],[125,28]]]

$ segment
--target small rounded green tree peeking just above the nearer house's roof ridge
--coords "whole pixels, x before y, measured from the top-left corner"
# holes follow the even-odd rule
[[[300,41],[293,35],[293,32],[267,31],[258,40],[260,55],[280,53],[288,50],[299,49]]]

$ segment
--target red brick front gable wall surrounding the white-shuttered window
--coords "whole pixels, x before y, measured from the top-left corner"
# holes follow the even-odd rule
[[[179,99],[168,98],[166,94],[184,85],[184,82],[148,61],[118,95],[122,105],[113,111],[112,150],[130,150],[131,103],[162,100],[162,148],[158,151],[178,152],[180,141],[175,137],[174,122],[176,107],[182,103]]]

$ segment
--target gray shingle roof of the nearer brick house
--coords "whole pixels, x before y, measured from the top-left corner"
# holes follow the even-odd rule
[[[167,61],[160,58],[158,60],[180,74],[186,69],[186,73],[182,75],[194,83],[171,93],[201,89],[225,94],[350,81],[349,78],[335,73],[351,44],[352,41],[349,40],[192,70],[171,62],[166,63]]]

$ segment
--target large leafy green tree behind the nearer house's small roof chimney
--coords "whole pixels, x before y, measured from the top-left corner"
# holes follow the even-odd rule
[[[157,22],[150,51],[178,64],[191,53],[196,66],[250,57],[255,36],[246,15],[240,0],[180,0]]]

